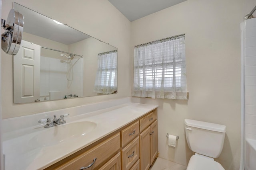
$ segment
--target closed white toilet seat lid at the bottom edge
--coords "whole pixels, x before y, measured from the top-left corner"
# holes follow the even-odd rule
[[[191,156],[187,170],[225,170],[220,163],[200,155]]]

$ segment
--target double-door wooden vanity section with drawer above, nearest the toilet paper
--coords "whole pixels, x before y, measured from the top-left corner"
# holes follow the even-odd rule
[[[158,129],[157,129],[157,115],[156,112],[150,114],[150,116],[142,118],[140,122],[146,122],[143,127],[148,125],[148,127],[140,133],[140,169],[148,170],[154,159],[158,154]],[[149,122],[154,120],[152,124]]]

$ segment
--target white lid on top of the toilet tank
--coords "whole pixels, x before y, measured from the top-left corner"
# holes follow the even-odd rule
[[[210,130],[210,131],[226,133],[226,126],[219,125],[216,123],[209,123],[209,122],[204,122],[204,121],[185,119],[185,125],[190,126],[190,127],[197,127],[200,129],[206,129],[206,130]]]

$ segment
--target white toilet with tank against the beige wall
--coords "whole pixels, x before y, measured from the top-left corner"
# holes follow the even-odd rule
[[[185,119],[185,131],[188,147],[195,152],[188,162],[187,170],[224,170],[213,158],[220,156],[226,126]]]

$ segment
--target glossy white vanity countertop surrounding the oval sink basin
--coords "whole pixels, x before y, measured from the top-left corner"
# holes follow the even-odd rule
[[[129,103],[90,113],[71,115],[71,117],[66,118],[67,123],[63,125],[79,121],[92,121],[97,125],[95,129],[86,135],[66,140],[58,145],[42,146],[31,139],[50,128],[58,128],[58,126],[62,125],[50,128],[36,125],[6,132],[4,133],[5,139],[3,141],[5,170],[44,169],[124,127],[157,107],[155,105]]]

